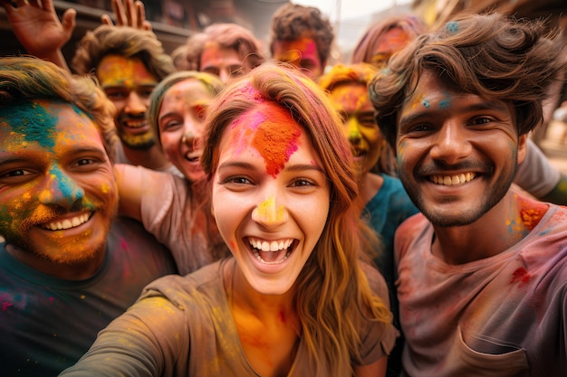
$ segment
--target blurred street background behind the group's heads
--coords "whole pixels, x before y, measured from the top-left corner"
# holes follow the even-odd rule
[[[269,40],[269,25],[275,10],[287,0],[143,0],[146,15],[166,52],[185,44],[187,37],[209,24],[236,23],[247,27],[264,47]],[[319,8],[329,17],[335,42],[329,66],[348,62],[351,51],[370,24],[392,14],[415,14],[430,27],[444,24],[463,11],[477,13],[498,10],[531,19],[543,18],[550,26],[561,26],[567,42],[567,0],[295,0],[295,4]],[[72,40],[63,48],[71,61],[77,42],[88,30],[101,24],[101,14],[111,14],[111,0],[53,1],[58,14],[72,7],[77,10],[77,27]],[[25,53],[0,8],[1,56]],[[266,56],[269,56],[266,53]],[[567,172],[564,158],[567,124],[552,122],[540,127],[533,139],[550,159]]]

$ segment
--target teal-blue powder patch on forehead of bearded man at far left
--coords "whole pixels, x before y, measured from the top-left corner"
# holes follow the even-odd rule
[[[0,118],[4,118],[15,133],[23,135],[24,141],[50,149],[55,146],[57,118],[43,106],[26,102],[0,108]]]

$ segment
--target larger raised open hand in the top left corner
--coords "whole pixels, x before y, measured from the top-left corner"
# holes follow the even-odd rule
[[[12,25],[12,30],[25,50],[45,61],[52,61],[69,71],[62,46],[69,42],[75,28],[77,12],[70,8],[60,22],[53,0],[0,0]]]

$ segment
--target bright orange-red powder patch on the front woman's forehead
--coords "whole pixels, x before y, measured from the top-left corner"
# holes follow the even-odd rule
[[[266,173],[275,178],[299,148],[301,130],[292,116],[284,111],[271,111],[269,118],[258,111],[251,120],[258,125],[251,145],[264,158]]]

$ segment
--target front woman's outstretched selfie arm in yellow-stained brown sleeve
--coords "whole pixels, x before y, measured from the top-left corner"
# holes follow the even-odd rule
[[[145,297],[101,330],[89,351],[60,376],[173,375],[179,355],[188,354],[183,311],[166,297]]]

